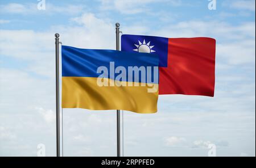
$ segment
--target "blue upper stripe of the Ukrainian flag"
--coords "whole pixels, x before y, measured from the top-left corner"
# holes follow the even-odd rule
[[[110,70],[110,62],[114,62],[115,68],[123,66],[126,69],[126,81],[128,80],[128,66],[151,66],[153,78],[153,67],[159,64],[159,57],[156,54],[109,49],[81,49],[62,45],[61,54],[63,77],[98,77],[100,75],[97,73],[98,67],[105,66]],[[117,75],[118,73],[114,75],[114,78]],[[110,78],[110,72],[108,78]]]

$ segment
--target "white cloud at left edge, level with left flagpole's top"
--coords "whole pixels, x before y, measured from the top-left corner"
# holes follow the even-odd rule
[[[53,36],[32,30],[0,30],[0,54],[33,61],[47,59],[46,55],[54,49],[48,43],[48,40],[54,40]]]

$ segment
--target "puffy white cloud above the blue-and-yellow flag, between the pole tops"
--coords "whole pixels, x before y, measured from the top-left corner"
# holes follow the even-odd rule
[[[115,49],[115,28],[107,19],[98,19],[92,13],[71,19],[80,27],[59,27],[65,45],[94,49]]]

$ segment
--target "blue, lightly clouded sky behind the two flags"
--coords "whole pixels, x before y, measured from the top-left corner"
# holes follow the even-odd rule
[[[55,45],[114,49],[126,34],[213,37],[214,98],[161,95],[124,112],[125,156],[255,156],[255,1],[0,1],[0,156],[55,156]],[[63,110],[64,156],[115,156],[115,111]]]

